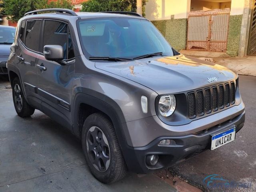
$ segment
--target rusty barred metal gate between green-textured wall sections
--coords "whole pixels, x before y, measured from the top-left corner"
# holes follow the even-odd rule
[[[188,50],[227,50],[230,9],[190,12],[188,15]]]

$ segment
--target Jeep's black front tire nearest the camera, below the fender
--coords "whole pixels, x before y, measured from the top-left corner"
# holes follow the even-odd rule
[[[100,134],[101,131],[103,132],[103,134]],[[92,142],[91,138],[94,138],[92,135],[95,135],[95,132],[98,138],[97,141],[95,141],[94,143]],[[101,139],[99,139],[100,137]],[[107,142],[104,142],[105,140],[102,138],[106,139]],[[100,142],[98,142],[98,140]],[[102,152],[98,150],[97,147],[95,148],[95,145],[98,145],[98,148],[100,148],[100,150],[104,148],[104,145],[109,146],[109,151],[106,150],[107,147],[105,147],[105,149],[102,150]],[[114,126],[112,122],[104,114],[94,113],[88,116],[88,118],[86,118],[82,130],[82,148],[90,172],[100,182],[110,184],[126,176],[127,166],[122,156],[121,148],[118,143]],[[96,153],[99,154],[98,157],[96,157]],[[95,159],[97,158],[97,160],[94,160],[94,162],[103,162],[103,160],[98,161],[98,159],[104,156],[103,154],[107,154],[106,157],[109,156],[108,168],[106,164],[105,168],[102,168],[102,166],[96,166],[97,163],[92,163],[94,156]],[[105,160],[107,159],[106,157],[104,157]]]

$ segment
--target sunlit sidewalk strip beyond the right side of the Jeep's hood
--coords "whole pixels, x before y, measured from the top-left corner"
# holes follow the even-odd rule
[[[213,58],[216,64],[236,71],[240,75],[256,76],[256,56],[246,58]]]

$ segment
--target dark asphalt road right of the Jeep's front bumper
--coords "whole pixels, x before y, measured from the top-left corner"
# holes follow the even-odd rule
[[[256,77],[239,76],[239,87],[246,108],[246,121],[236,135],[236,140],[170,168],[172,173],[194,186],[199,186],[203,191],[256,191]],[[218,178],[222,177],[228,183],[234,184],[232,187],[227,184],[226,187],[220,185],[208,188],[203,180],[211,174],[218,174]],[[237,182],[244,185],[234,188]],[[214,186],[214,183],[209,186]],[[246,186],[249,187],[245,188]]]

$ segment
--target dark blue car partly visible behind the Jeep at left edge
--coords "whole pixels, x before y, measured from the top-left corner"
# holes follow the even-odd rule
[[[10,55],[10,46],[14,42],[16,28],[0,25],[0,75],[8,74],[6,61]]]

